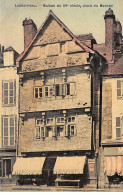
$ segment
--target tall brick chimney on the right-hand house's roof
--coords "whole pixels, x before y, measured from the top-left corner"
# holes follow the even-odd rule
[[[115,15],[109,8],[105,12],[105,47],[106,47],[106,58],[108,62],[113,61],[113,49],[114,49],[114,24]]]

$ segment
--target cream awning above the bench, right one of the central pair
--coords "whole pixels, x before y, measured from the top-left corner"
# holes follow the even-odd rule
[[[57,157],[54,174],[83,174],[86,156]]]

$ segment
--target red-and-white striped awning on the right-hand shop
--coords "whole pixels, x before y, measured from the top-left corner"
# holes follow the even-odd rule
[[[105,157],[105,172],[108,176],[115,173],[123,176],[123,156]]]

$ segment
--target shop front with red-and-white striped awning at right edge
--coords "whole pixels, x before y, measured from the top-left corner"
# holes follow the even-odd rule
[[[123,147],[104,147],[105,188],[123,188]]]

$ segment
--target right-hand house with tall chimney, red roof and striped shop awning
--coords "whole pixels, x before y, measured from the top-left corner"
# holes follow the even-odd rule
[[[103,55],[100,129],[100,187],[123,187],[123,42],[122,26],[111,9],[105,12],[105,44],[94,49]]]

